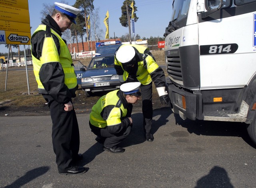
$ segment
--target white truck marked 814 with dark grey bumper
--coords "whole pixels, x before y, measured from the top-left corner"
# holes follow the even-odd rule
[[[172,111],[246,123],[256,144],[256,0],[173,0],[165,38]]]

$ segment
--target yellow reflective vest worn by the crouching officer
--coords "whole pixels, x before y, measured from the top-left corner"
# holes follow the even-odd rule
[[[98,100],[98,102],[92,107],[92,112],[90,113],[90,123],[92,125],[99,128],[104,128],[106,126],[113,126],[121,123],[121,118],[125,117],[127,114],[127,109],[124,108],[123,104],[121,104],[120,108],[118,107],[112,108],[106,120],[104,120],[100,115],[102,110],[106,106],[108,105],[116,106],[116,103],[120,100],[119,97],[116,95],[118,91],[119,90],[115,90],[102,96]]]

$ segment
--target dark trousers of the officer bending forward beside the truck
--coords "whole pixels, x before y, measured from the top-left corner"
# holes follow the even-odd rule
[[[142,96],[142,114],[144,132],[149,133],[152,127],[153,105],[152,105],[152,82],[148,85],[140,85]]]

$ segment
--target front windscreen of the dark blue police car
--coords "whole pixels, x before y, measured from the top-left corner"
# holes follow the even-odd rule
[[[106,68],[111,66],[114,66],[114,54],[112,56],[94,57],[89,64],[89,68]]]

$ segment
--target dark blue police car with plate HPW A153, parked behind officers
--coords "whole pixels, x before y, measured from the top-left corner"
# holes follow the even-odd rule
[[[121,45],[120,41],[101,42],[96,49],[96,56],[92,58],[89,66],[84,67],[84,71],[81,68],[82,73],[76,71],[77,78],[81,77],[78,78],[78,84],[81,84],[81,88],[85,91],[87,97],[92,92],[120,88],[121,84],[114,68],[114,53]],[[81,82],[79,82],[79,79],[81,79]]]

